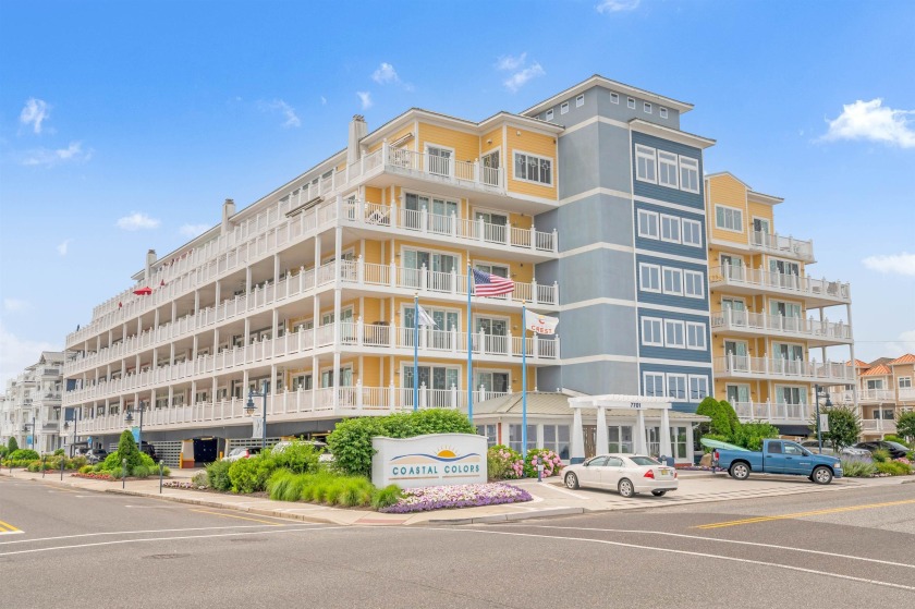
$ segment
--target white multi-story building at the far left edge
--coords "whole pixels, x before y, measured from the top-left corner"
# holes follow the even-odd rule
[[[63,353],[45,351],[36,364],[7,381],[0,402],[0,443],[53,452],[61,447]]]

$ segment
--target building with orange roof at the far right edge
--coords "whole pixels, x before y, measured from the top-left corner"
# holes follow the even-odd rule
[[[861,405],[862,436],[882,438],[895,434],[895,419],[915,410],[915,355],[880,357],[870,364],[855,361],[856,381],[833,387],[830,398],[837,404]]]

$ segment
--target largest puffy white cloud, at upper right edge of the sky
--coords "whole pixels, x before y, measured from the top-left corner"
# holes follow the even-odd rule
[[[834,121],[827,119],[829,131],[822,139],[869,139],[915,148],[915,110],[894,110],[883,106],[881,98],[842,105],[842,113]]]

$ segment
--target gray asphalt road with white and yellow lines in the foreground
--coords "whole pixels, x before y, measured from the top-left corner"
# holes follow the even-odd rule
[[[915,605],[915,484],[343,527],[0,478],[0,607]]]

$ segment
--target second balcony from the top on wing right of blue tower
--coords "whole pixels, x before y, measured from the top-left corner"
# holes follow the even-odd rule
[[[747,295],[762,292],[803,299],[807,306],[813,307],[852,302],[851,287],[847,283],[731,265],[711,268],[708,282],[712,290]]]

